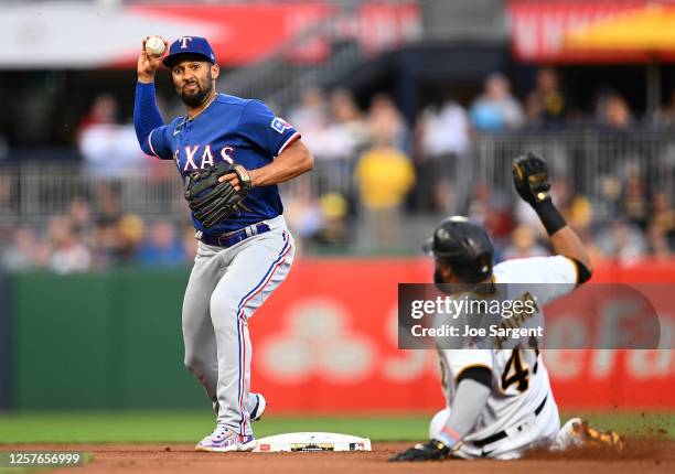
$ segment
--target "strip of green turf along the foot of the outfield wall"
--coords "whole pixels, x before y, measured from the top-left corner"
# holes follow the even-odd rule
[[[581,413],[593,425],[622,434],[667,434],[675,413]],[[568,416],[564,416],[566,420]],[[257,438],[293,431],[332,431],[373,441],[427,438],[428,416],[268,417],[254,424]],[[26,412],[0,414],[0,443],[196,442],[213,429],[207,411]]]

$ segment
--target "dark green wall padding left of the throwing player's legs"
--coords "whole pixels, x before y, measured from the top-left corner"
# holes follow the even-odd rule
[[[182,363],[188,276],[186,269],[15,274],[11,406],[203,406]]]

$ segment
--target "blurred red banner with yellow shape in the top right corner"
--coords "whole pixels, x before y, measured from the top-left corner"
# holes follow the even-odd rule
[[[524,62],[645,63],[675,57],[672,3],[514,0],[508,13],[513,52]]]

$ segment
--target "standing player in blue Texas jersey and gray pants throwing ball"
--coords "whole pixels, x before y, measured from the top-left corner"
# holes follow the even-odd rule
[[[163,58],[146,52],[144,43],[133,114],[141,149],[173,161],[186,190],[200,173],[232,165],[236,172],[216,184],[229,190],[227,198],[247,191],[237,212],[215,223],[195,215],[199,196],[190,202],[199,248],[182,320],[185,366],[217,414],[215,430],[196,450],[249,451],[255,448],[250,421],[260,417],[266,400],[249,392],[248,320],[286,279],[294,255],[277,184],[310,171],[313,158],[300,133],[265,104],[216,91],[219,68],[205,39],[179,37]],[[168,125],[156,105],[160,64],[171,71],[186,106],[186,115]],[[214,202],[210,213],[222,207],[223,201]]]

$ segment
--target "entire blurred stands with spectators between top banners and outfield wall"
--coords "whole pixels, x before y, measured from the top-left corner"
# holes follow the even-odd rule
[[[324,3],[339,9],[333,23],[363,14],[360,2]],[[279,61],[225,62],[218,82],[223,93],[267,100],[313,152],[315,171],[281,186],[304,252],[419,255],[436,222],[464,214],[490,229],[497,259],[546,255],[536,216],[510,185],[511,160],[532,150],[549,161],[555,201],[598,258],[671,257],[675,69],[668,61],[657,64],[657,54],[649,62],[524,61],[518,9],[546,2],[361,3],[415,12],[415,28],[401,30],[414,33],[371,51],[330,36],[325,29],[334,24],[317,20],[270,53]],[[642,3],[669,7],[604,1],[597,8]],[[435,17],[446,10],[456,20],[439,24]],[[473,30],[462,26],[468,17]],[[298,37],[307,44],[318,35],[329,39],[329,56],[289,58]],[[222,57],[227,54],[224,49]],[[143,155],[136,141],[133,71],[132,57],[109,69],[0,67],[0,99],[9,110],[0,119],[4,268],[65,273],[194,258],[178,172]],[[162,74],[158,101],[168,121],[184,111]],[[243,86],[257,77],[262,85]]]

